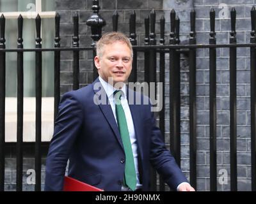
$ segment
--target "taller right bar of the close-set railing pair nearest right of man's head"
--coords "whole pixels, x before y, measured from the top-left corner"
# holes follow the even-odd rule
[[[154,9],[150,12],[150,34],[149,34],[149,45],[156,45],[156,12]],[[149,50],[149,82],[154,82],[156,84],[156,50],[150,49]],[[148,87],[151,87],[148,84]],[[154,90],[151,88],[149,89],[150,97],[156,97],[156,85],[153,87]],[[156,170],[151,168],[151,190],[157,190],[157,174]]]

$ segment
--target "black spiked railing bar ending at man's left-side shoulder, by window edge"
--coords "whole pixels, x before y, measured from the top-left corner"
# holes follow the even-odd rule
[[[55,16],[55,43],[54,47],[60,47],[60,15]],[[60,51],[54,51],[54,121],[58,115],[60,103]]]

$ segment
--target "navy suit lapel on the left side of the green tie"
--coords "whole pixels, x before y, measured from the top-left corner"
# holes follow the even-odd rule
[[[118,129],[118,126],[116,124],[116,120],[115,120],[115,117],[113,115],[113,111],[112,111],[111,105],[109,104],[109,101],[108,101],[108,96],[107,96],[103,86],[101,85],[101,83],[99,81],[99,78],[97,78],[93,82],[92,85],[93,85],[93,87],[95,87],[94,85],[97,82],[99,83],[99,85],[97,85],[97,88],[100,87],[100,90],[99,89],[95,90],[93,88],[93,91],[95,92],[95,95],[97,95],[97,97],[95,97],[95,100],[96,100],[95,102],[97,104],[99,104],[100,110],[102,111],[102,113],[104,114],[104,117],[108,121],[109,126],[111,127],[111,129],[115,133],[115,136],[116,136],[116,139],[118,140],[118,143],[121,145],[122,149],[124,149],[123,143],[122,143],[122,139],[121,139],[121,136],[120,136],[120,133],[119,133],[119,129]],[[101,96],[101,98],[102,97],[106,97],[106,103],[104,103],[104,104],[100,103],[99,96]]]

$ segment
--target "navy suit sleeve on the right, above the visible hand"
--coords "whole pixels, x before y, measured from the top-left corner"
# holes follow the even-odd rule
[[[166,149],[161,131],[156,126],[153,112],[151,112],[151,127],[150,162],[163,177],[166,184],[176,191],[180,183],[188,182],[188,180],[180,170],[170,151]]]

